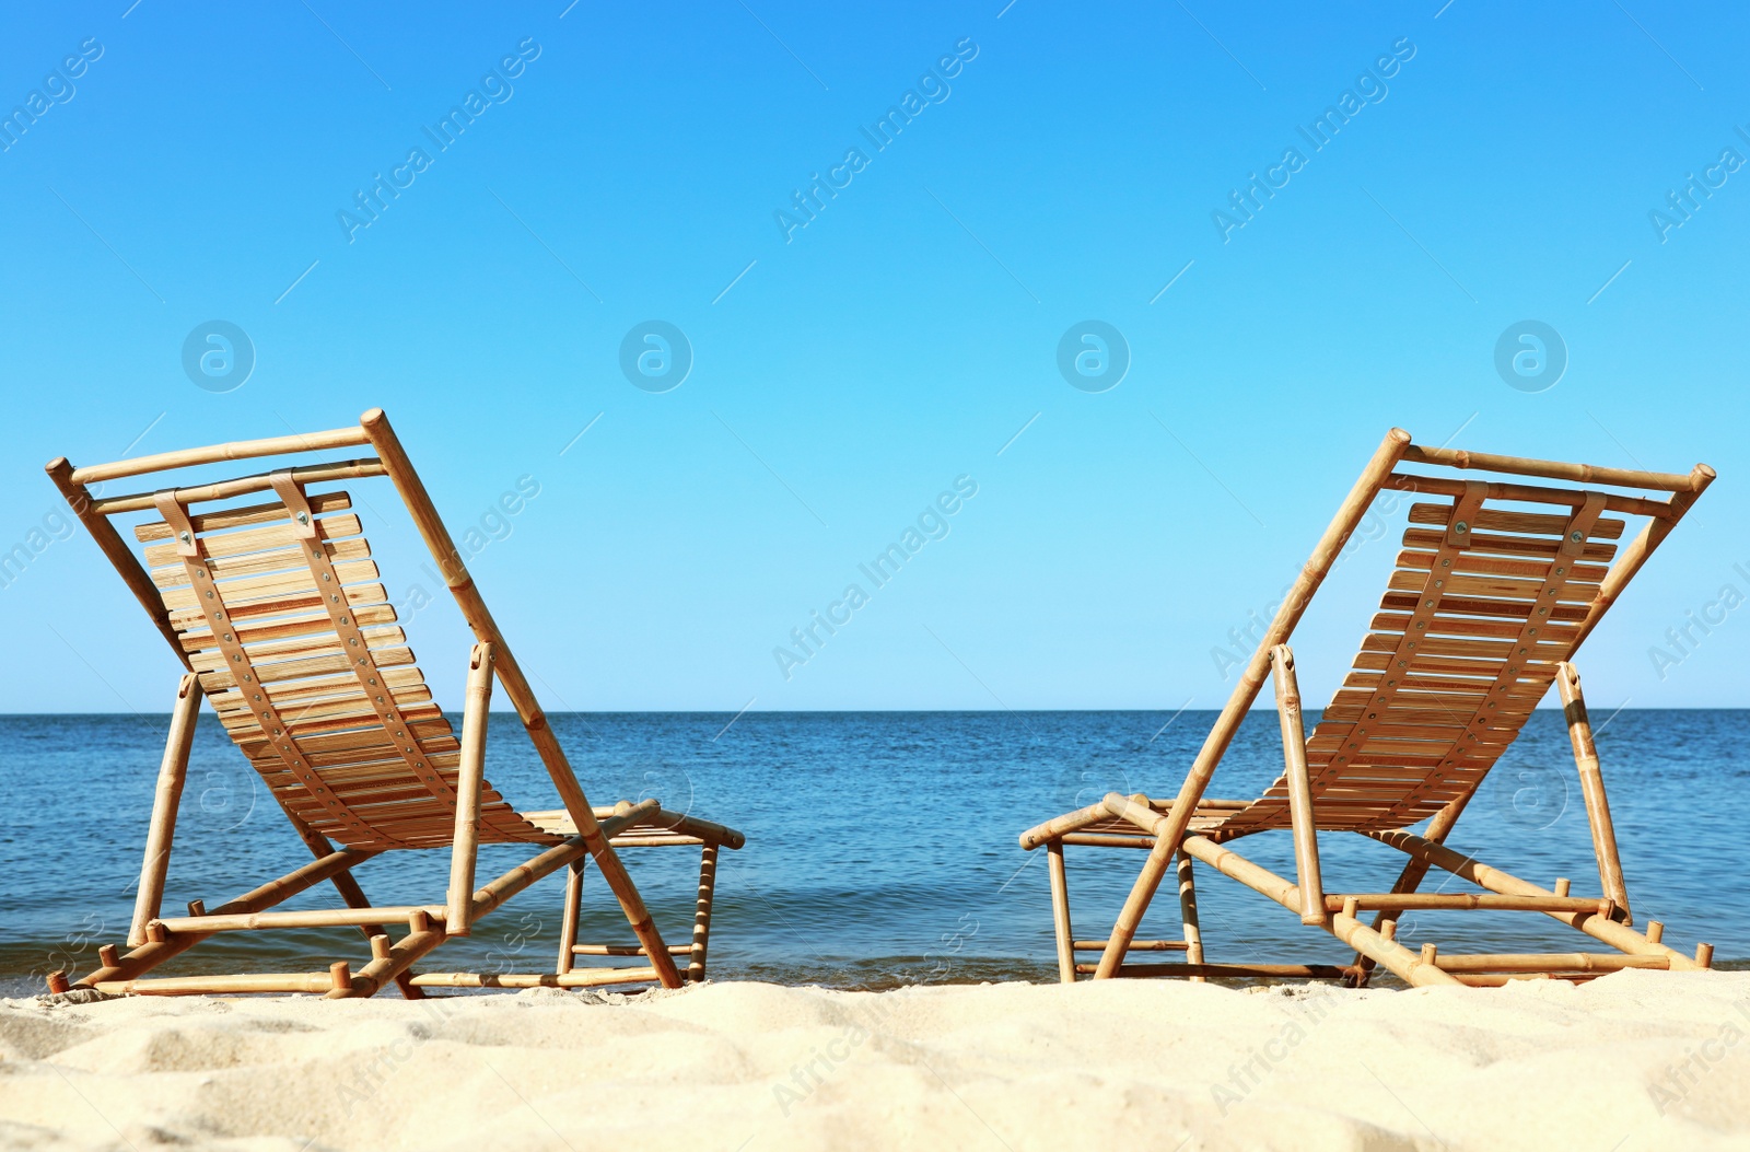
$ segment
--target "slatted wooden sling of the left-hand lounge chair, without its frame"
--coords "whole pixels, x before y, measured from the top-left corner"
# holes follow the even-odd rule
[[[455,833],[460,742],[413,662],[346,492],[196,515],[166,488],[135,527],[170,625],[219,721],[278,802],[348,847]],[[556,840],[490,784],[480,839]]]

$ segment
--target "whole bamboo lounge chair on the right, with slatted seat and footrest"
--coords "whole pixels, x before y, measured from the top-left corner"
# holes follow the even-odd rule
[[[1400,471],[1407,464],[1586,487]],[[1528,975],[1584,979],[1617,968],[1710,966],[1710,945],[1703,944],[1690,959],[1659,942],[1662,926],[1657,921],[1645,931],[1631,926],[1610,809],[1572,658],[1712,480],[1713,469],[1706,464],[1687,474],[1645,473],[1423,448],[1400,429],[1386,434],[1258,643],[1178,797],[1111,793],[1022,833],[1022,847],[1045,846],[1048,851],[1059,977],[1064,982],[1078,973],[1096,979],[1309,977],[1362,984],[1374,965],[1382,965],[1410,984],[1494,986]],[[1629,495],[1592,485],[1668,495]],[[1426,502],[1410,508],[1404,551],[1381,611],[1362,641],[1353,671],[1306,737],[1288,639],[1382,490],[1412,492]],[[1614,541],[1624,532],[1624,516],[1643,518],[1645,527],[1619,550]],[[1255,800],[1206,798],[1209,779],[1265,676],[1276,685],[1286,770]],[[1554,889],[1531,884],[1444,844],[1550,681],[1566,711],[1598,856],[1600,896],[1570,895],[1563,879]],[[1409,832],[1424,819],[1430,823],[1421,835]],[[1227,847],[1239,837],[1272,828],[1293,833],[1295,882]],[[1330,832],[1372,837],[1409,856],[1391,891],[1326,893],[1318,844],[1320,833]],[[1069,844],[1146,853],[1106,940],[1076,940],[1071,930],[1064,870]],[[1354,961],[1348,966],[1204,963],[1192,861],[1276,900],[1304,924],[1332,933],[1354,949]],[[1176,865],[1183,938],[1138,940],[1138,926],[1169,865]],[[1430,868],[1451,872],[1484,891],[1418,893]],[[1424,944],[1418,956],[1395,940],[1398,916],[1409,909],[1540,912],[1615,952],[1463,956]],[[1372,924],[1362,923],[1363,912],[1376,914]],[[1125,956],[1132,951],[1183,951],[1185,963],[1127,965]],[[1078,952],[1099,952],[1099,961],[1078,963]]]

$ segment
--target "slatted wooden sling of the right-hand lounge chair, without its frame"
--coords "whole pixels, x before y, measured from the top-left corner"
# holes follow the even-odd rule
[[[1475,791],[1608,608],[1626,522],[1601,515],[1603,492],[1522,511],[1486,488],[1409,509],[1379,615],[1307,739],[1321,828],[1405,828]],[[1288,825],[1279,779],[1223,830]]]

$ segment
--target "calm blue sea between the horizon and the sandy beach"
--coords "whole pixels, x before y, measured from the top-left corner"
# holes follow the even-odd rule
[[[718,979],[887,987],[905,982],[1055,979],[1045,853],[1017,835],[1106,791],[1172,795],[1214,713],[714,713],[550,716],[593,804],[658,797],[733,825],[710,968]],[[1601,718],[1600,718],[1601,720]],[[1169,723],[1171,721],[1171,723]],[[168,716],[0,716],[0,994],[40,973],[89,970],[121,942],[133,907]],[[726,727],[728,725],[728,727]],[[1311,720],[1309,720],[1311,727]],[[1718,961],[1750,959],[1750,711],[1622,711],[1598,735],[1636,921]],[[558,807],[511,714],[494,714],[488,779],[523,809]],[[1211,797],[1251,797],[1281,770],[1274,713],[1253,713]],[[1566,730],[1538,713],[1494,769],[1451,842],[1524,879],[1598,893]],[[1286,832],[1241,846],[1293,875]],[[483,849],[481,881],[532,854]],[[1328,891],[1381,891],[1402,856],[1354,835],[1321,842]],[[182,798],[164,912],[208,907],[304,861],[259,777],[203,716]],[[628,867],[670,942],[690,935],[693,849],[630,849]],[[1069,849],[1080,937],[1102,938],[1141,853]],[[388,853],[357,870],[380,903],[441,903],[448,853]],[[1346,961],[1349,952],[1232,881],[1199,868],[1211,961]],[[1424,886],[1432,889],[1432,884]],[[1451,891],[1470,891],[1452,882]],[[550,972],[564,881],[553,875],[434,954],[438,970]],[[1144,937],[1178,937],[1171,889]],[[632,935],[593,868],[581,938]],[[284,907],[336,907],[332,888]],[[1454,930],[1468,930],[1460,944]],[[1584,947],[1526,914],[1447,912],[1405,921],[1416,947]],[[1600,945],[1601,947],[1601,945]],[[368,956],[352,930],[228,933],[154,975],[313,972]],[[245,963],[240,959],[247,958]]]

